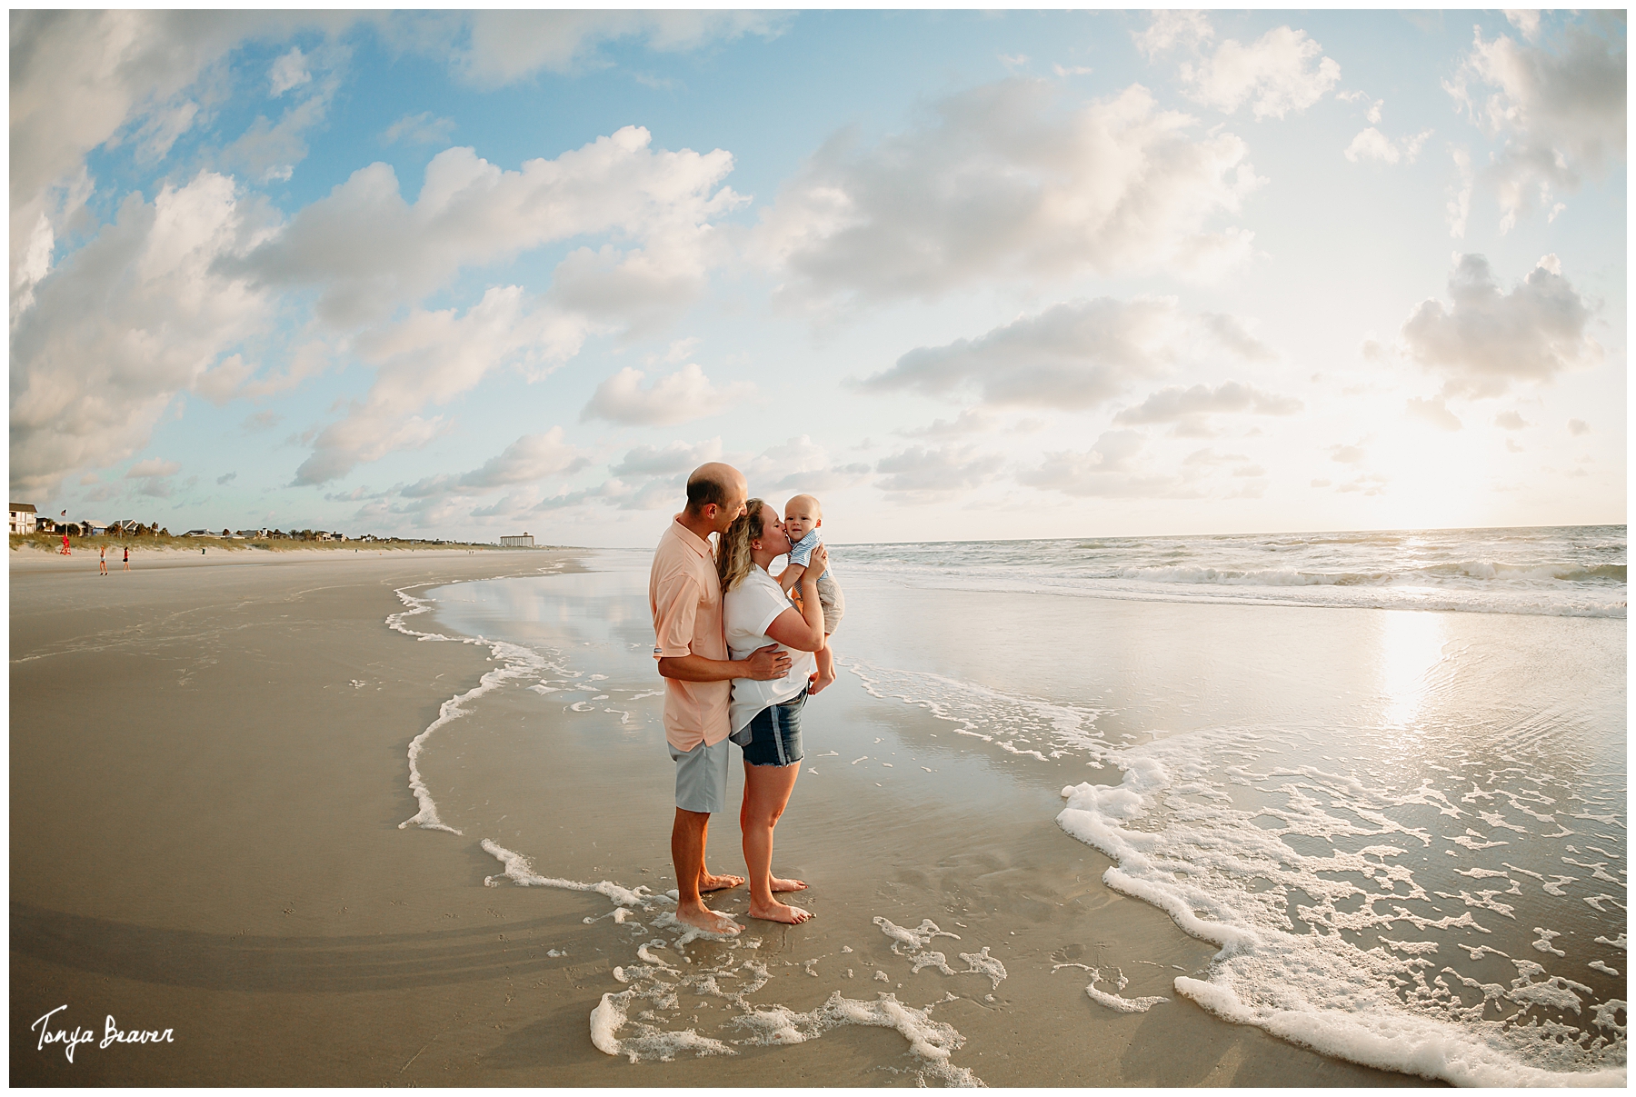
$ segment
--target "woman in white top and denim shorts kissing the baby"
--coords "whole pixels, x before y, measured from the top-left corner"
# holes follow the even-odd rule
[[[823,546],[802,574],[802,610],[767,574],[767,564],[790,551],[779,512],[759,499],[744,504],[744,513],[721,535],[717,572],[721,577],[721,613],[731,659],[748,659],[767,644],[790,651],[790,670],[782,678],[757,682],[733,678],[728,718],[733,742],[744,749],[744,804],[738,813],[744,832],[744,865],[749,868],[749,917],[798,925],[810,911],[772,898],[774,891],[802,891],[800,880],[772,876],[772,827],[802,772],[802,706],[807,683],[818,674],[815,651],[823,647],[823,607],[818,605],[818,575],[829,554]],[[823,556],[820,557],[820,553]]]

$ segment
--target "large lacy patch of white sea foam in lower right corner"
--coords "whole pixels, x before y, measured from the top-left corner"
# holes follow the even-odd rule
[[[1543,911],[1572,881],[1513,876],[1507,863],[1461,875],[1508,888],[1428,888],[1422,880],[1446,863],[1428,853],[1443,842],[1463,855],[1500,842],[1428,826],[1415,808],[1435,809],[1432,817],[1464,809],[1423,783],[1405,791],[1358,772],[1274,762],[1302,752],[1302,736],[1289,731],[1189,732],[1116,754],[1119,785],[1063,790],[1058,824],[1116,862],[1104,875],[1111,888],[1220,945],[1209,978],[1178,978],[1176,991],[1227,1020],[1369,1066],[1479,1086],[1623,1084],[1623,1035],[1575,1020],[1593,999],[1585,984],[1531,960],[1510,960],[1515,978],[1503,984],[1438,963],[1440,943],[1459,945],[1471,961],[1505,956],[1459,935],[1494,937],[1523,904]],[[1224,780],[1212,759],[1245,754],[1274,763],[1235,767],[1243,785]],[[1530,878],[1539,889],[1523,886]],[[1464,909],[1451,914],[1438,899]],[[1394,927],[1417,935],[1379,932]],[[1366,932],[1373,948],[1360,940]],[[1533,934],[1521,942],[1566,955],[1554,943],[1562,932]],[[1094,981],[1090,992],[1121,1009]]]

